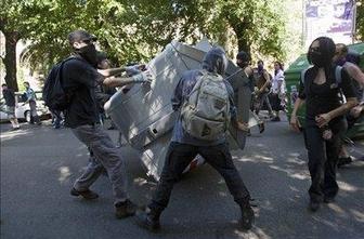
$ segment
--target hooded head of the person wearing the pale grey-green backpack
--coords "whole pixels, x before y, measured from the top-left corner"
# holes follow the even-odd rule
[[[203,61],[203,69],[224,75],[227,67],[227,57],[222,48],[212,48],[208,51]]]

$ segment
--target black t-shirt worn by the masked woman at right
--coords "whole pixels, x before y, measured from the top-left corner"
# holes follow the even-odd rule
[[[347,98],[355,97],[355,93],[350,77],[343,68],[341,69],[341,83],[337,84],[333,67],[326,74],[326,82],[316,84],[313,82],[317,68],[312,67],[307,70],[306,79],[300,80],[299,97],[306,99],[306,118],[314,120],[316,116],[332,111],[342,104],[341,92]],[[340,119],[341,117],[338,117]]]

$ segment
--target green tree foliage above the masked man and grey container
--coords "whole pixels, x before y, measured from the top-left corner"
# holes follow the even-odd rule
[[[285,59],[285,23],[278,0],[9,0],[1,14],[9,28],[31,42],[22,55],[47,71],[70,53],[67,34],[86,29],[115,64],[147,61],[171,40],[207,36],[237,50]]]

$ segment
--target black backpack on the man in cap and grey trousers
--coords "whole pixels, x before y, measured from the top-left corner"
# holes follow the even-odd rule
[[[63,64],[69,59],[76,59],[77,57],[68,57],[52,67],[42,92],[43,101],[51,110],[65,110],[68,108],[73,93],[66,92],[63,89],[62,83],[62,68]]]

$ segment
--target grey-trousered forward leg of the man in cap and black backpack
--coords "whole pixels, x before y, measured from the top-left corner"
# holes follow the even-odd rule
[[[106,169],[112,182],[115,203],[125,201],[127,195],[127,176],[120,151],[113,144],[108,134],[100,125],[82,125],[73,130],[75,135],[94,152],[95,158]]]

